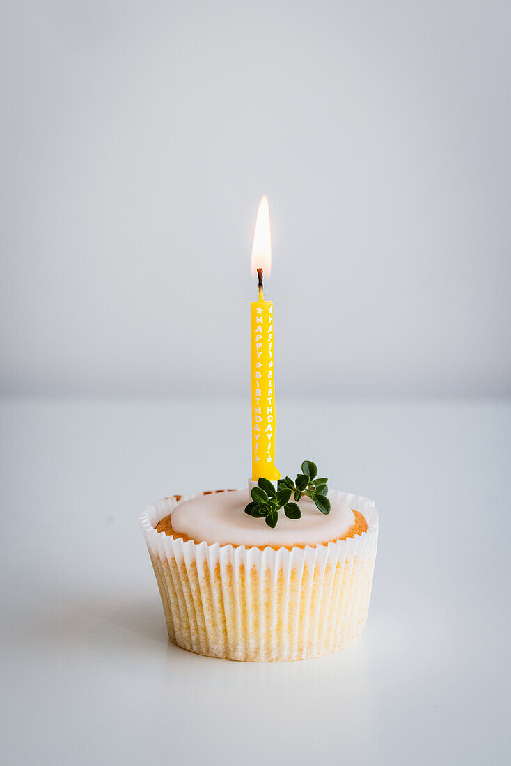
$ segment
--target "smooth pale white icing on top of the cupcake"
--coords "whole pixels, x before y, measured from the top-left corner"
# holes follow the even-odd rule
[[[175,506],[172,529],[195,542],[221,545],[316,545],[341,538],[355,523],[352,509],[339,494],[328,494],[331,509],[327,516],[308,497],[299,502],[301,519],[287,519],[280,509],[275,529],[270,529],[264,519],[254,519],[244,512],[250,501],[246,489],[199,495]]]

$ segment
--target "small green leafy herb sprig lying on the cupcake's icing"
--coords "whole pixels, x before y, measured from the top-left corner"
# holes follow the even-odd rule
[[[297,502],[305,494],[314,502],[322,513],[330,512],[330,501],[326,497],[328,479],[316,479],[318,469],[312,460],[304,460],[302,473],[293,481],[290,476],[279,479],[277,489],[267,479],[260,478],[258,486],[252,489],[252,502],[245,508],[245,513],[255,519],[263,519],[268,526],[275,528],[279,520],[279,510],[284,509],[288,519],[300,519],[302,512]],[[294,501],[291,502],[291,497]]]

